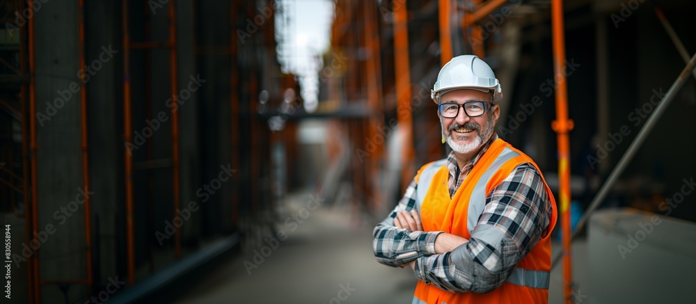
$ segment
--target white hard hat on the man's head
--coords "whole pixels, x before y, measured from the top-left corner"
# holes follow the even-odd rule
[[[437,75],[437,81],[430,91],[430,98],[436,104],[445,93],[452,90],[473,89],[493,92],[493,100],[503,98],[503,89],[491,67],[475,55],[461,55],[452,58]]]

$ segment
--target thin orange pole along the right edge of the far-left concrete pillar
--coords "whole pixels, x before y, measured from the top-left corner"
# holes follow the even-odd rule
[[[84,0],[79,0],[79,14],[78,14],[78,28],[79,28],[79,57],[80,66],[84,67],[85,64],[85,24],[84,24]],[[88,150],[88,138],[87,138],[87,90],[85,86],[85,76],[80,79],[80,124],[81,124],[81,150],[82,150],[82,178],[84,191],[88,193],[89,191],[89,150]],[[86,246],[86,257],[85,263],[87,269],[87,280],[86,284],[89,285],[88,290],[92,288],[92,214],[90,208],[91,198],[90,195],[85,195],[84,201],[84,225],[85,225],[85,246]]]

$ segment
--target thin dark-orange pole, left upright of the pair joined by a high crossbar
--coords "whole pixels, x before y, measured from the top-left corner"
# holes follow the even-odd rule
[[[122,2],[121,24],[123,26],[123,136],[127,143],[133,141],[131,131],[130,97],[130,35],[128,34],[128,1]],[[133,157],[124,150],[125,189],[126,189],[126,264],[128,285],[135,283],[135,249],[133,227]]]

